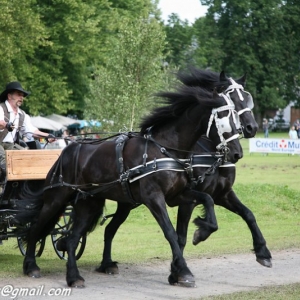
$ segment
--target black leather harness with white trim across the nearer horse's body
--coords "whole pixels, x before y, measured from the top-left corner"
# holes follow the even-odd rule
[[[145,151],[143,154],[143,163],[139,166],[136,166],[131,169],[125,170],[124,166],[124,159],[123,159],[123,151],[126,142],[132,138],[132,137],[137,137],[136,133],[128,132],[128,133],[122,133],[119,134],[118,138],[115,140],[115,153],[116,153],[116,164],[117,164],[117,171],[119,173],[119,179],[108,182],[108,183],[87,183],[83,185],[79,185],[77,183],[75,184],[70,184],[67,182],[63,181],[63,176],[62,176],[62,159],[63,159],[63,154],[59,157],[59,162],[56,164],[56,167],[53,171],[52,178],[50,180],[50,185],[45,187],[44,190],[51,189],[54,187],[58,186],[66,186],[70,187],[73,190],[77,191],[77,197],[75,202],[78,199],[81,198],[86,198],[87,196],[93,196],[97,193],[100,193],[106,189],[111,188],[113,185],[120,183],[124,195],[128,198],[128,201],[133,205],[133,206],[138,206],[140,203],[137,203],[134,200],[134,197],[132,195],[131,189],[130,189],[130,183],[137,181],[147,175],[150,175],[155,172],[159,171],[175,171],[175,172],[185,172],[188,174],[188,179],[189,179],[189,187],[190,188],[195,188],[198,184],[202,183],[206,176],[214,174],[217,168],[219,167],[235,167],[234,164],[230,162],[226,162],[224,160],[224,155],[222,154],[204,154],[204,155],[191,155],[190,158],[187,159],[178,159],[174,156],[172,156],[164,147],[159,145],[152,137],[150,134],[145,135],[144,138],[146,139],[145,143]],[[166,158],[158,158],[154,159],[152,161],[147,162],[147,149],[148,149],[148,142],[154,142],[155,145],[160,147],[161,152],[166,156]],[[78,157],[79,157],[79,152],[81,149],[81,143],[79,143],[79,146],[77,147],[76,150],[76,162],[75,165],[78,164]],[[194,178],[193,175],[193,168],[195,167],[207,167],[207,170],[198,178]],[[56,183],[53,183],[55,174],[60,172],[59,175],[59,180]],[[77,172],[78,169],[76,167],[75,169],[75,177],[77,178]],[[83,190],[84,189],[84,190]]]

